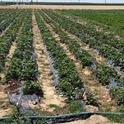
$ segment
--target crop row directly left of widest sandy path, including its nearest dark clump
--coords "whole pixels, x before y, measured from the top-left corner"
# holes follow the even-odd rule
[[[27,14],[26,14],[27,13]],[[6,74],[7,82],[20,81],[24,83],[24,94],[43,95],[38,84],[38,66],[33,47],[32,14],[24,13],[23,27],[16,43],[17,48],[12,58],[11,66]]]

